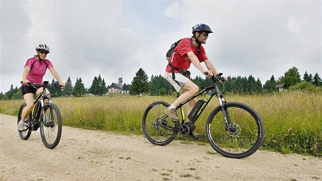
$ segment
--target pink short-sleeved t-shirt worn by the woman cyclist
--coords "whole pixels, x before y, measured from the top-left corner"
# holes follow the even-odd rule
[[[31,67],[32,64],[34,64],[34,65],[27,76],[27,80],[29,80],[33,83],[36,83],[36,84],[42,84],[42,78],[47,71],[46,63],[48,64],[48,69],[51,67],[54,67],[52,62],[47,59],[39,61],[37,59],[37,57],[29,58],[25,64],[25,66]],[[22,85],[24,85],[24,84],[22,84]]]

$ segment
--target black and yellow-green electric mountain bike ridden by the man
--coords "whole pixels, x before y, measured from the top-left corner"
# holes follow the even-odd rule
[[[217,81],[223,82],[221,73],[213,76],[213,86],[206,87],[198,94],[181,103],[177,109],[181,111],[181,123],[173,123],[164,111],[170,106],[164,101],[150,104],[144,112],[142,127],[145,137],[155,145],[171,143],[179,132],[189,135],[195,129],[196,122],[206,105],[216,96],[219,101],[209,115],[205,134],[210,145],[221,155],[241,159],[255,153],[264,139],[264,125],[258,113],[250,106],[241,102],[226,102],[219,91]],[[223,85],[223,84],[222,84]],[[206,100],[199,100],[188,115],[191,122],[185,123],[186,117],[183,105],[202,95],[205,91],[213,90]]]

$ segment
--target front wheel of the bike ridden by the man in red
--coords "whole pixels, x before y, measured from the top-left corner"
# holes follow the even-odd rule
[[[206,123],[210,145],[221,155],[234,159],[255,153],[264,139],[264,125],[258,113],[240,102],[225,103],[224,109],[231,128],[225,126],[220,106],[216,107]]]

